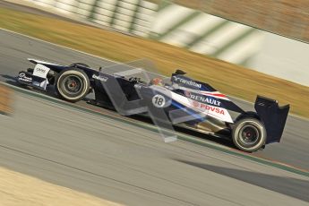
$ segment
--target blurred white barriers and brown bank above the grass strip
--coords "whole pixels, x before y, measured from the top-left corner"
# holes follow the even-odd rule
[[[20,0],[309,86],[309,2]],[[34,5],[35,6],[35,5]]]

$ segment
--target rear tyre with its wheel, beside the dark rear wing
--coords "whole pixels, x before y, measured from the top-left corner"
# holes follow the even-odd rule
[[[247,152],[261,149],[266,142],[266,137],[264,124],[255,118],[239,120],[232,133],[235,146]]]

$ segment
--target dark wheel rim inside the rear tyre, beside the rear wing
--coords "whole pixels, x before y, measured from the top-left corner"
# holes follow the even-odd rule
[[[252,146],[259,141],[261,133],[253,124],[246,124],[239,131],[239,141],[245,146]]]

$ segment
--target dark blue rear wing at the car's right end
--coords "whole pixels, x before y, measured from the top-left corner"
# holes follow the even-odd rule
[[[289,105],[279,107],[277,100],[257,96],[254,108],[265,125],[266,143],[280,142],[288,118]]]

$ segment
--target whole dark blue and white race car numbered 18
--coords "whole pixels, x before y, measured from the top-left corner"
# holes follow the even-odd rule
[[[162,128],[173,125],[226,138],[247,152],[279,142],[289,106],[257,96],[255,111],[245,111],[206,82],[182,70],[170,77],[150,73],[146,66],[114,64],[98,70],[87,64],[61,65],[28,59],[34,68],[21,71],[17,82],[40,90],[55,87],[59,98],[116,109],[123,116],[150,116]],[[48,86],[49,85],[49,86]],[[88,98],[89,99],[89,98]]]

